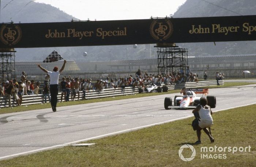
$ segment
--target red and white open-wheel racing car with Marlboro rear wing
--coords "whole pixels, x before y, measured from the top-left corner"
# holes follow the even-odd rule
[[[195,88],[187,89],[182,88],[180,93],[183,95],[174,96],[174,104],[172,105],[172,98],[165,98],[165,109],[169,110],[175,109],[195,109],[197,105],[200,104],[200,98],[206,96],[208,106],[211,108],[216,107],[216,97],[208,95],[209,90],[207,88]],[[202,96],[197,96],[197,94],[202,94]]]

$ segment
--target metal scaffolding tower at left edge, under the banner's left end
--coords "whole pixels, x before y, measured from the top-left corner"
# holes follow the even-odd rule
[[[0,49],[0,80],[15,78],[15,50]]]

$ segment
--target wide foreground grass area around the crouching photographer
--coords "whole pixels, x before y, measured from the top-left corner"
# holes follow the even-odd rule
[[[192,130],[193,118],[163,125],[118,134],[86,143],[90,147],[67,146],[27,156],[2,160],[1,167],[45,167],[45,166],[255,166],[256,105],[214,113],[212,135],[215,143],[202,132],[202,144],[194,145],[196,132]],[[178,150],[184,144],[196,149],[195,159],[184,162]],[[248,147],[250,152],[207,152],[225,154],[226,159],[201,159],[201,147]],[[206,153],[206,152],[203,152]],[[191,156],[190,149],[182,151],[184,157]],[[222,155],[223,156],[223,155]]]

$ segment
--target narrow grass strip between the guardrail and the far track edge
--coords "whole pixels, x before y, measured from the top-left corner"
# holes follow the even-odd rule
[[[228,82],[228,83],[225,83],[224,85],[209,86],[207,88],[225,88],[225,87],[234,87],[234,86],[244,86],[244,85],[249,85],[249,84],[255,84],[255,83],[248,83],[248,82],[232,83],[232,82]],[[169,90],[168,92],[161,92],[161,93],[143,93],[143,94],[133,94],[133,95],[126,95],[126,96],[114,96],[114,97],[90,99],[90,100],[70,101],[70,102],[57,103],[57,107],[80,105],[80,104],[87,104],[87,103],[96,103],[96,102],[106,102],[106,101],[120,100],[120,99],[140,98],[140,97],[146,97],[146,96],[156,96],[156,95],[172,94],[172,93],[178,93],[178,92],[180,92],[180,90]],[[15,112],[29,111],[29,110],[38,110],[38,109],[49,109],[49,108],[52,108],[50,103],[37,104],[37,105],[28,105],[28,106],[18,106],[18,107],[12,107],[12,108],[2,108],[0,110],[0,114],[15,113]]]

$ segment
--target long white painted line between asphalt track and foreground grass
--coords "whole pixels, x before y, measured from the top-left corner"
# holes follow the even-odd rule
[[[255,105],[255,104],[256,104],[256,103],[251,103],[251,104],[248,104],[248,105],[242,105],[242,106],[237,106],[237,107],[231,107],[231,108],[223,109],[223,110],[230,110],[230,109],[234,109],[234,108],[238,108],[238,107],[250,106],[250,105]],[[223,111],[223,110],[217,110],[217,111],[214,111],[214,113],[215,113],[215,112],[218,112],[218,111]],[[71,144],[80,143],[80,142],[83,142],[83,141],[94,140],[94,139],[97,139],[97,138],[112,136],[112,135],[120,134],[120,133],[124,133],[124,132],[130,132],[130,131],[134,131],[134,130],[138,130],[138,129],[142,129],[142,128],[147,128],[147,127],[150,127],[150,126],[166,124],[166,123],[169,123],[169,122],[173,122],[173,121],[177,121],[177,120],[181,120],[181,119],[186,119],[186,118],[190,118],[190,117],[193,117],[193,116],[194,116],[194,115],[187,116],[187,117],[182,117],[182,118],[177,118],[177,119],[172,119],[172,120],[169,120],[169,121],[159,122],[159,123],[155,123],[155,124],[150,124],[150,125],[145,125],[145,126],[139,126],[139,127],[136,127],[136,128],[126,129],[126,130],[120,130],[120,131],[118,131],[118,132],[113,132],[113,133],[108,133],[108,134],[102,134],[102,135],[99,135],[99,136],[90,137],[90,138],[85,138],[85,139],[77,140],[77,141],[72,141],[72,142],[69,142],[69,143],[53,145],[53,146],[51,146],[51,147],[45,147],[45,148],[35,149],[35,150],[31,150],[31,151],[16,153],[16,154],[12,154],[12,155],[2,156],[2,157],[0,157],[0,159],[7,159],[7,158],[14,157],[14,156],[19,156],[19,155],[24,155],[24,154],[29,154],[29,153],[44,151],[44,150],[47,150],[47,149],[53,149],[53,148],[57,148],[57,147],[64,147],[64,146],[68,146],[68,145],[71,145]]]

